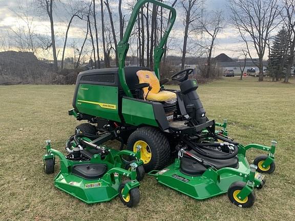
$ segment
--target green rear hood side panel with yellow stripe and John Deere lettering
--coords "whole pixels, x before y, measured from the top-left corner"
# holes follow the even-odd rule
[[[121,122],[117,86],[80,83],[75,106],[79,113]]]

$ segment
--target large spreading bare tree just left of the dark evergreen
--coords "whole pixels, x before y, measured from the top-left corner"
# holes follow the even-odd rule
[[[239,31],[251,60],[259,68],[259,81],[263,81],[263,57],[269,35],[279,22],[279,0],[229,0],[230,23]],[[254,47],[259,61],[251,54]]]

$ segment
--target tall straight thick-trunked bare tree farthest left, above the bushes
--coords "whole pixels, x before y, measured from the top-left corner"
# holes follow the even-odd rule
[[[57,54],[55,46],[55,35],[54,35],[54,21],[53,21],[53,3],[54,0],[35,0],[38,3],[38,8],[45,10],[50,20],[51,30],[51,42],[52,42],[52,56],[53,56],[53,70],[58,71],[57,67]]]

